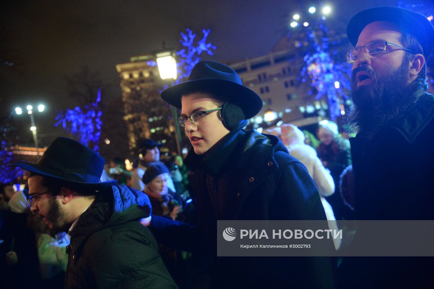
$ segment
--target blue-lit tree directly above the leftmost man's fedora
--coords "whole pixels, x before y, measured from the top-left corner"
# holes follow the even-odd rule
[[[59,112],[56,116],[55,126],[62,125],[68,133],[71,133],[77,140],[86,145],[93,145],[94,151],[99,151],[99,139],[101,138],[101,115],[102,112],[98,108],[98,103],[101,101],[101,89],[98,89],[95,102],[84,105],[83,107],[76,106],[74,109],[67,109]]]

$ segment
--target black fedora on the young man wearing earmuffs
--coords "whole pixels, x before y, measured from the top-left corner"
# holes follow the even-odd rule
[[[243,86],[237,72],[214,61],[200,61],[191,70],[186,82],[173,85],[161,92],[161,98],[181,108],[181,96],[194,90],[212,91],[224,101],[238,105],[246,118],[252,118],[262,109],[262,99],[256,92]]]

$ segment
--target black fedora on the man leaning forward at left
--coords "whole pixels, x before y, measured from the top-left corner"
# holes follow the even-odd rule
[[[21,167],[46,177],[95,189],[114,185],[117,181],[99,182],[105,160],[90,148],[70,138],[56,138],[36,164],[18,161],[10,166]]]

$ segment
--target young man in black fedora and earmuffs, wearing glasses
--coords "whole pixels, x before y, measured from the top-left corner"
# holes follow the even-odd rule
[[[330,258],[217,257],[217,220],[325,220],[306,167],[279,138],[243,130],[260,112],[260,97],[233,69],[212,61],[198,62],[187,82],[161,97],[181,108],[178,122],[193,146],[184,162],[195,168],[197,226],[152,216],[158,242],[197,252],[208,286],[333,288]]]

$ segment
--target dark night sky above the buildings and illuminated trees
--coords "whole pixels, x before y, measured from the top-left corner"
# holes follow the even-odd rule
[[[10,3],[5,3],[10,2]],[[1,117],[17,105],[46,105],[35,115],[42,143],[62,134],[53,128],[56,110],[73,108],[67,98],[66,77],[88,66],[111,84],[102,95],[104,103],[121,95],[115,65],[131,56],[178,48],[179,33],[191,28],[211,29],[209,42],[217,46],[215,61],[253,58],[270,53],[286,34],[292,15],[316,1],[3,1],[1,4],[1,58],[14,66],[0,65]],[[327,21],[344,27],[358,11],[380,5],[395,6],[395,0],[334,0]],[[421,2],[421,1],[418,1]],[[426,1],[422,1],[426,2]],[[315,5],[315,4],[314,4]],[[331,25],[330,24],[330,25]],[[198,38],[201,33],[198,34]],[[30,127],[24,112],[11,124]],[[20,132],[31,139],[30,130]],[[50,134],[45,135],[44,134]]]

